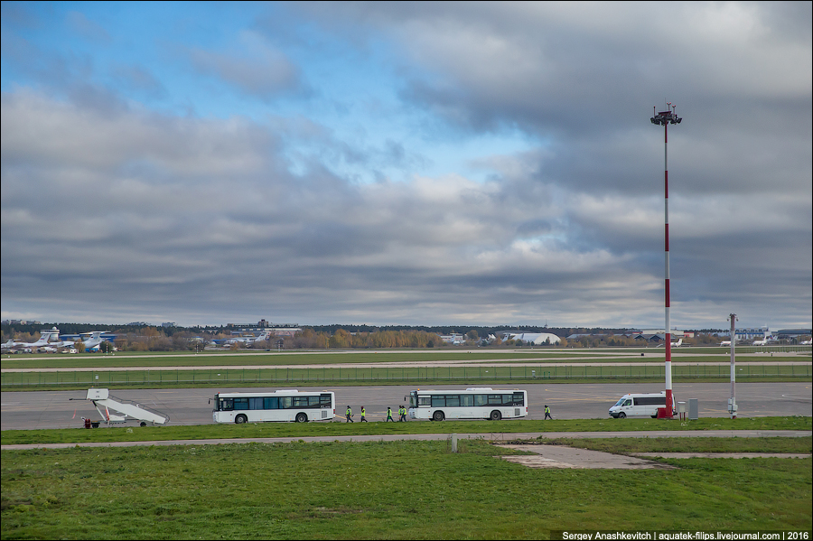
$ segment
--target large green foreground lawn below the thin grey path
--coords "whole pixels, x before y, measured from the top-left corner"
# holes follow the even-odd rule
[[[88,431],[90,432],[90,431]],[[2,538],[548,538],[811,528],[809,459],[531,470],[482,441],[3,451]],[[612,512],[611,512],[612,510]]]

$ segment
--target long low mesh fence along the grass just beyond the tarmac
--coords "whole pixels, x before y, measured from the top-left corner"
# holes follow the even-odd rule
[[[672,378],[728,379],[729,365],[672,364]],[[811,378],[811,366],[783,364],[737,365],[737,379],[741,378]],[[395,382],[456,383],[475,381],[533,381],[533,380],[630,380],[664,379],[664,366],[645,364],[590,366],[493,366],[493,367],[364,367],[358,368],[193,368],[193,369],[137,369],[137,370],[67,370],[60,372],[5,372],[2,386],[14,387],[92,387],[92,386],[172,386],[179,385],[323,385]]]

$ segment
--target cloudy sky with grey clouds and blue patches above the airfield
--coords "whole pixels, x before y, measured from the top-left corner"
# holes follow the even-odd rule
[[[811,4],[2,4],[2,318],[811,325]]]

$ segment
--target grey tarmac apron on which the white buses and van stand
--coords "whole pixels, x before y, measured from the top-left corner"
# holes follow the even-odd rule
[[[459,389],[460,386],[425,386],[422,388]],[[477,387],[485,387],[478,385]],[[492,386],[495,389],[514,388]],[[251,387],[256,391],[272,391],[278,387]],[[299,387],[306,388],[306,387]],[[387,407],[397,409],[406,404],[406,396],[416,386],[377,387],[315,387],[336,393],[337,414],[345,406],[358,411],[365,406],[370,421],[384,420]],[[544,418],[544,407],[550,406],[555,419],[612,419],[607,410],[626,393],[653,393],[663,390],[662,383],[646,384],[564,384],[547,383],[525,385],[528,390],[528,419]],[[678,402],[698,400],[701,417],[727,416],[727,403],[731,394],[729,383],[675,384],[673,390]],[[211,424],[210,398],[216,392],[248,392],[240,388],[181,388],[181,389],[111,389],[111,394],[133,400],[169,415],[169,425]],[[98,420],[98,412],[84,398],[86,391],[30,391],[2,393],[0,428],[47,429],[75,428],[82,417]],[[73,398],[74,400],[70,400]],[[739,417],[775,415],[813,415],[813,385],[810,383],[740,383],[736,386]]]

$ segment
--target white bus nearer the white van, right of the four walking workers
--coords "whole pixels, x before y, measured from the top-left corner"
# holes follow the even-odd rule
[[[416,390],[409,393],[409,418],[514,419],[528,415],[528,392],[472,387],[464,391]]]

